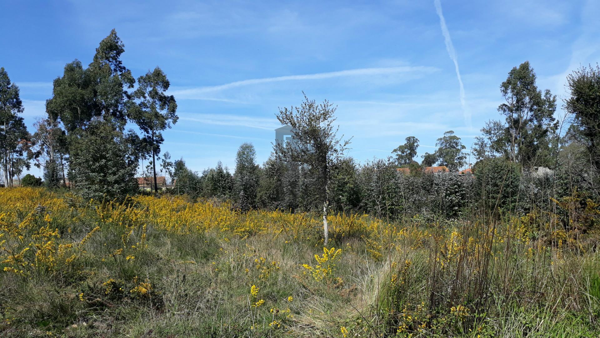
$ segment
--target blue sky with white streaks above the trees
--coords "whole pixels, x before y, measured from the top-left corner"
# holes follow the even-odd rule
[[[115,28],[136,78],[160,66],[170,79],[180,118],[163,150],[193,170],[235,167],[245,141],[265,161],[278,107],[299,105],[302,90],[338,106],[361,162],[408,136],[419,155],[432,152],[448,130],[469,148],[499,118],[512,67],[529,60],[562,106],[566,75],[600,60],[593,0],[3,1],[0,13],[10,28],[0,66],[20,86],[28,126],[64,65],[88,64]]]

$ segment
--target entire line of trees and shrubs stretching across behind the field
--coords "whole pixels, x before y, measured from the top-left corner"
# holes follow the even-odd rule
[[[242,210],[365,212],[379,217],[455,218],[466,210],[527,212],[548,207],[550,198],[598,200],[600,168],[600,68],[581,67],[566,79],[565,118],[555,118],[557,99],[540,90],[529,62],[514,67],[500,84],[505,100],[467,150],[453,131],[437,139],[436,151],[415,161],[419,140],[407,137],[394,157],[359,164],[346,156],[350,139],[337,136],[335,107],[305,97],[279,109],[278,121],[293,139],[276,143],[264,164],[245,143],[233,174],[218,164],[201,174],[183,159],[161,156],[161,131],[178,120],[169,80],[160,68],[136,79],[122,64],[124,45],[113,30],[84,67],[75,60],[53,82],[46,118],[27,131],[19,88],[0,69],[0,169],[13,185],[30,165],[42,168],[43,184],[68,185],[85,198],[124,199],[139,192],[140,161],[156,177],[160,165],[175,182],[171,192],[193,198],[230,200]],[[136,85],[137,83],[137,85]],[[126,130],[136,125],[137,131]],[[458,174],[471,167],[474,176]],[[446,166],[451,173],[428,174]],[[398,171],[397,168],[407,168]],[[40,185],[35,177],[23,183]],[[155,191],[158,185],[153,184]],[[556,205],[556,203],[554,204]]]

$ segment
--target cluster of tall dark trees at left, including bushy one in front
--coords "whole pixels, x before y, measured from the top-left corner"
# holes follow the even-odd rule
[[[169,80],[154,70],[136,79],[121,61],[125,51],[113,29],[100,41],[92,62],[74,60],[53,82],[47,116],[27,131],[19,87],[0,69],[0,165],[5,186],[29,170],[43,169],[49,188],[70,186],[85,198],[136,194],[140,159],[148,159],[156,180],[161,134],[176,123],[177,104],[165,92]],[[137,126],[125,130],[128,123]],[[25,184],[37,185],[35,177]],[[154,184],[154,186],[157,186]]]

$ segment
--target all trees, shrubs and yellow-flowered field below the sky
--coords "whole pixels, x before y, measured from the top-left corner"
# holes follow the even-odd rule
[[[136,87],[124,51],[113,30],[67,64],[34,134],[0,68],[1,336],[600,336],[598,66],[568,76],[562,120],[514,67],[470,153],[446,131],[421,164],[412,136],[356,162],[304,96],[263,165],[244,143],[233,174],[198,174],[161,158],[166,75]]]

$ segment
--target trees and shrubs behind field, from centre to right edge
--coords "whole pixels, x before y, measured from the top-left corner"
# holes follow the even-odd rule
[[[275,144],[262,165],[256,163],[254,147],[242,144],[233,174],[220,163],[196,174],[183,160],[176,161],[175,192],[230,200],[242,210],[322,210],[325,204],[333,212],[392,219],[526,214],[556,209],[556,201],[565,197],[574,198],[572,207],[583,210],[587,200],[599,200],[600,69],[582,67],[569,75],[569,115],[561,121],[554,117],[556,96],[539,90],[535,80],[527,62],[509,72],[500,85],[506,102],[498,111],[504,120],[488,121],[470,153],[448,131],[421,164],[415,161],[415,137],[394,149],[394,158],[359,164],[341,152],[347,143],[335,137],[331,104],[305,99],[278,114],[301,143]],[[469,159],[473,175],[459,174]],[[451,172],[426,173],[424,167],[431,165],[445,165]],[[409,170],[401,173],[399,167]]]

